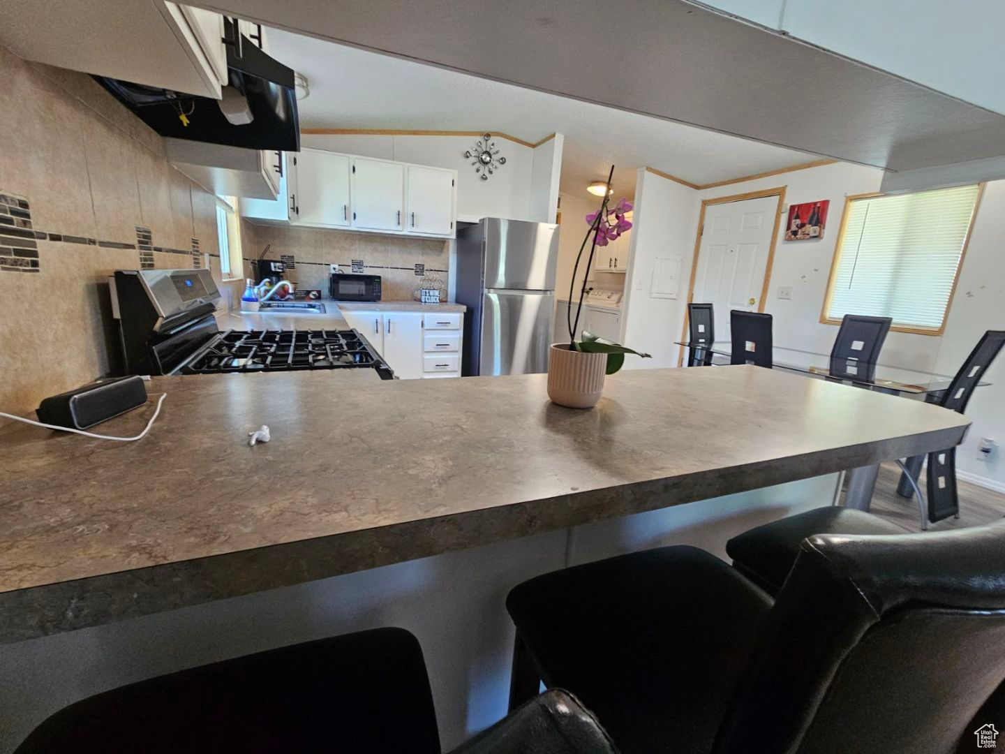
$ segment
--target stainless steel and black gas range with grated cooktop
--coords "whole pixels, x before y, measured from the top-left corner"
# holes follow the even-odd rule
[[[208,269],[120,269],[111,278],[126,374],[374,369],[394,373],[355,330],[226,330]]]

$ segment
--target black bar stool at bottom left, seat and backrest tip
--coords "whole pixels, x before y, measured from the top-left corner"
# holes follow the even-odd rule
[[[615,754],[566,692],[533,699],[454,754]],[[377,628],[248,654],[89,697],[15,754],[439,754],[419,642]]]

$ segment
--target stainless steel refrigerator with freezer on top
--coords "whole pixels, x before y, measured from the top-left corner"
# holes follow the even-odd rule
[[[457,231],[463,376],[548,371],[558,252],[551,223],[486,217]]]

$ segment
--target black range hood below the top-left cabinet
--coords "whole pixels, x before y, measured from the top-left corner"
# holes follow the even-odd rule
[[[269,57],[224,18],[227,93],[247,101],[250,123],[234,125],[219,101],[117,78],[94,76],[123,105],[161,136],[245,149],[297,152],[299,121],[293,71]],[[187,122],[187,125],[186,125]]]

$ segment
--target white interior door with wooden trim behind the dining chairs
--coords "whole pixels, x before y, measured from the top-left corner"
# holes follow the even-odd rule
[[[691,301],[714,305],[717,341],[730,339],[730,310],[762,307],[777,212],[777,196],[706,207]]]

